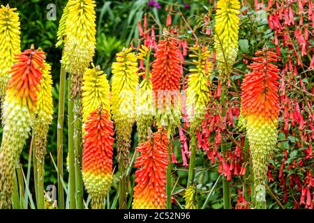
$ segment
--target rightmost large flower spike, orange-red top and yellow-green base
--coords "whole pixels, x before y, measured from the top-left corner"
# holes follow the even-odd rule
[[[250,144],[255,185],[265,183],[270,154],[276,145],[279,115],[278,57],[266,47],[257,51],[241,85],[241,118]]]

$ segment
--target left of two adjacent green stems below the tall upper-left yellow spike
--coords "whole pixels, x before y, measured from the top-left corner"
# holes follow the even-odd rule
[[[68,77],[68,194],[70,209],[75,209],[75,152],[74,152],[74,102],[70,99],[71,77]]]

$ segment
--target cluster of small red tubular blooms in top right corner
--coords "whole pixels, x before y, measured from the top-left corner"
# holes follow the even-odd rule
[[[293,50],[298,66],[302,64],[301,57],[309,53],[308,49],[312,52],[314,50],[309,41],[314,29],[313,6],[312,0],[268,1],[268,22],[270,29],[274,30],[277,54],[281,55],[281,47]],[[297,40],[297,43],[294,43],[294,40]],[[313,66],[314,54],[311,60],[311,67]]]

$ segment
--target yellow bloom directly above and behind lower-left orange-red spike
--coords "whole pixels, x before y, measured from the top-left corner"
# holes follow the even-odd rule
[[[100,70],[100,66],[96,66],[96,68],[94,64],[92,66],[93,68],[88,68],[83,75],[83,123],[100,104],[103,110],[110,114],[110,85],[107,75]]]

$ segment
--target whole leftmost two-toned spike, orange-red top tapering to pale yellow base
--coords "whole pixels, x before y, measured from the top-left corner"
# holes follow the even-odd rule
[[[0,148],[0,209],[10,207],[15,164],[33,125],[44,52],[27,49],[17,54],[3,103],[3,136]]]

